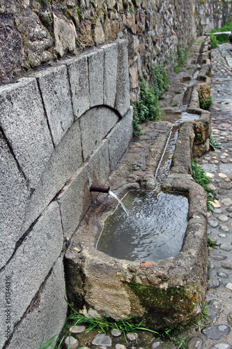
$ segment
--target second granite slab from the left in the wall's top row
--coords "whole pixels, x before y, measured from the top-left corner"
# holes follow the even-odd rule
[[[56,146],[73,122],[67,67],[47,69],[36,77]]]

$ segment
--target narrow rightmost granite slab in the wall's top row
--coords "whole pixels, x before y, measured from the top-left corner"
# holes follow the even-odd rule
[[[123,117],[130,108],[127,40],[118,41],[118,70],[115,109]]]

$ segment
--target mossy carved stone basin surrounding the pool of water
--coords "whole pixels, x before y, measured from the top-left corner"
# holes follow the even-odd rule
[[[69,302],[75,309],[107,314],[119,320],[144,319],[151,329],[187,323],[201,312],[206,296],[207,244],[206,193],[192,179],[194,126],[180,127],[173,167],[162,191],[188,198],[187,229],[180,253],[162,260],[132,262],[113,258],[95,246],[116,200],[99,194],[88,210],[65,253]],[[120,186],[116,194],[138,189],[136,182]]]

